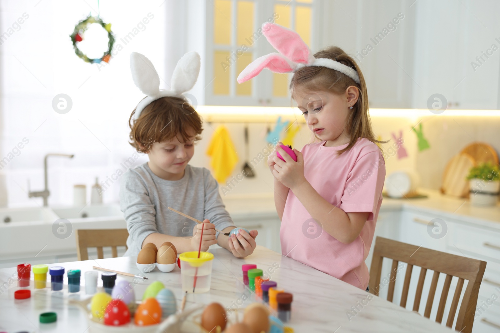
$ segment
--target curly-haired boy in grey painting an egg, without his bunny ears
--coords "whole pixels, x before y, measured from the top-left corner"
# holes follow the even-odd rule
[[[250,255],[257,231],[240,231],[230,239],[215,232],[215,228],[224,233],[235,228],[218,184],[206,168],[187,164],[203,130],[198,113],[174,96],[153,100],[132,121],[135,111],[129,119],[129,143],[147,153],[149,162],[129,169],[120,181],[120,207],[129,234],[125,256],[137,256],[146,243],[159,248],[166,241],[178,253],[198,251],[202,225],[168,207],[203,221],[201,251],[218,244],[237,258]]]

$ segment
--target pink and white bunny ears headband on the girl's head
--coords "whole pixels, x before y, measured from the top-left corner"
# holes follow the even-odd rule
[[[314,58],[307,44],[295,31],[266,22],[262,24],[262,33],[279,53],[269,53],[253,60],[239,73],[238,83],[255,77],[264,68],[274,73],[294,73],[304,66],[322,66],[344,73],[359,84],[359,75],[353,68],[332,59]]]

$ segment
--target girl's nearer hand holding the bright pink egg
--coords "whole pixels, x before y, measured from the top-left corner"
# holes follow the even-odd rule
[[[279,155],[284,158],[284,161],[277,156],[273,157],[274,170],[272,170],[272,175],[279,180],[281,184],[293,191],[293,189],[306,181],[304,177],[304,158],[302,153],[293,149],[293,152],[297,156],[297,161],[295,162],[283,148],[276,146],[276,149]]]

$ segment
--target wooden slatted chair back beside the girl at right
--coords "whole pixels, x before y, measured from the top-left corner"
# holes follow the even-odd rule
[[[430,317],[439,273],[446,274],[441,297],[439,299],[439,306],[437,308],[437,323],[441,323],[442,321],[451,278],[458,277],[455,293],[453,295],[453,300],[448,313],[448,319],[446,321],[446,326],[449,328],[453,325],[456,308],[458,306],[460,293],[463,287],[463,281],[467,280],[467,288],[463,294],[460,309],[458,311],[455,330],[462,333],[470,333],[472,331],[477,295],[479,293],[479,286],[481,285],[482,276],[486,268],[486,262],[377,237],[375,239],[375,248],[373,251],[373,259],[371,260],[370,280],[368,284],[369,292],[376,296],[378,296],[380,288],[380,274],[382,270],[383,258],[392,259],[392,267],[387,291],[387,301],[389,302],[392,302],[392,297],[394,295],[394,285],[396,272],[398,271],[398,263],[403,262],[408,264],[406,267],[406,274],[404,276],[401,301],[399,303],[399,305],[403,308],[406,307],[406,299],[408,297],[408,288],[413,266],[419,266],[421,268],[416,286],[415,300],[413,302],[413,311],[416,312],[418,312],[418,307],[420,305],[425,273],[427,270],[434,271],[423,315],[426,318]]]

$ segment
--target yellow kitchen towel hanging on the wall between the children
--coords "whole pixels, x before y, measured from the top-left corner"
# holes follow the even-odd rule
[[[206,154],[212,158],[210,166],[213,169],[214,178],[219,183],[225,182],[238,162],[238,154],[225,126],[220,125],[215,129]]]

